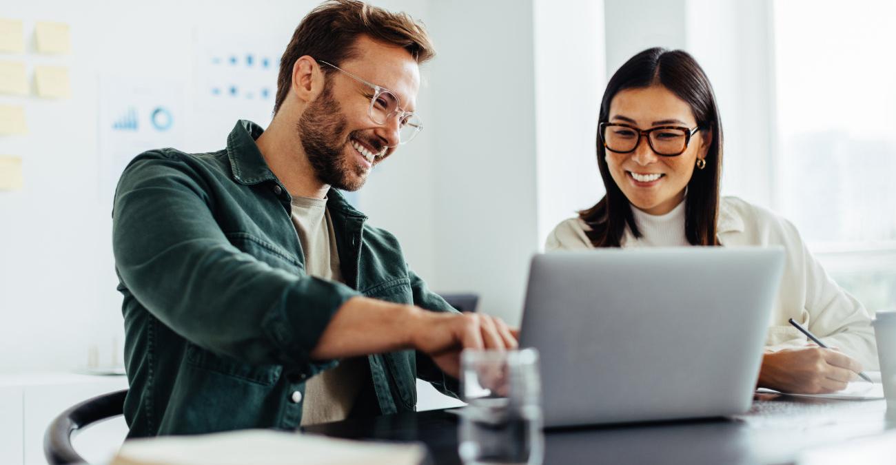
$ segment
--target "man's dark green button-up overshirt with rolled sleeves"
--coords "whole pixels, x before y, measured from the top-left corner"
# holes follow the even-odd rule
[[[118,183],[113,246],[124,295],[129,437],[293,429],[306,380],[336,366],[311,351],[349,298],[453,312],[410,271],[392,234],[331,189],[346,284],[308,276],[289,193],[239,121],[227,149],[148,151]],[[456,391],[413,350],[367,357],[359,414],[413,410],[415,378]]]

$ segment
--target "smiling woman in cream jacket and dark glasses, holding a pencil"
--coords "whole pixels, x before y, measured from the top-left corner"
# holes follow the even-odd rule
[[[600,105],[598,165],[607,194],[560,223],[547,237],[547,251],[784,245],[759,386],[835,392],[863,367],[877,369],[865,307],[823,271],[797,229],[771,211],[719,197],[721,120],[711,84],[692,56],[650,48],[619,68]],[[837,349],[807,345],[788,318]]]

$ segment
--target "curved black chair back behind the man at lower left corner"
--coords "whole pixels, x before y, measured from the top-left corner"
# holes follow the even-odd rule
[[[51,464],[83,463],[84,459],[74,452],[72,433],[91,423],[122,415],[125,409],[127,390],[109,392],[93,399],[84,400],[65,410],[50,423],[44,434],[44,456]]]

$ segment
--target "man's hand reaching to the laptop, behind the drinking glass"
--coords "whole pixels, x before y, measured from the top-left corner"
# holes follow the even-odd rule
[[[518,347],[518,332],[500,318],[487,314],[443,314],[422,312],[415,319],[411,345],[433,357],[442,371],[455,378],[461,374],[461,350],[507,350]]]

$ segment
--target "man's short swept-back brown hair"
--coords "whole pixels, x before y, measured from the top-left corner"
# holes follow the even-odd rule
[[[292,67],[302,56],[312,56],[339,66],[356,55],[355,40],[361,34],[408,50],[418,64],[435,56],[423,24],[407,13],[392,13],[357,0],[328,0],[314,8],[298,24],[296,32],[280,58],[277,100],[280,109],[292,85]],[[322,68],[324,73],[329,68]]]

